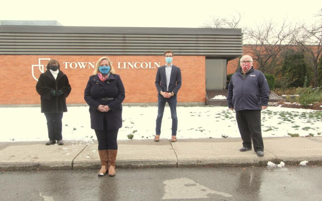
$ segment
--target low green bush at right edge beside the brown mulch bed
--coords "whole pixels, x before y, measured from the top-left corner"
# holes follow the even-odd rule
[[[297,102],[303,106],[313,103],[322,103],[322,90],[319,87],[298,87]]]

